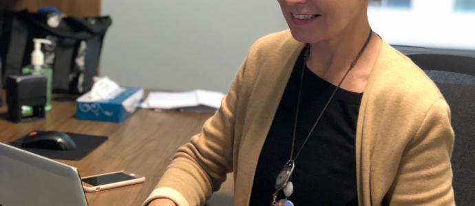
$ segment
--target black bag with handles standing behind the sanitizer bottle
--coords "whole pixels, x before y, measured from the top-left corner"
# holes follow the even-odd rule
[[[47,38],[52,45],[45,45],[42,50],[45,64],[53,70],[53,91],[81,94],[91,89],[105,32],[112,24],[109,16],[65,17],[56,27],[48,24],[51,15],[28,10],[4,12],[0,16],[3,87],[6,77],[21,73],[22,67],[30,65],[32,39]]]

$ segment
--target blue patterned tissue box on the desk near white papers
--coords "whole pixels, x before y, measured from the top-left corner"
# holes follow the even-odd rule
[[[79,97],[76,118],[106,122],[123,122],[132,115],[143,98],[141,88],[123,88],[108,100],[88,101],[90,93]]]

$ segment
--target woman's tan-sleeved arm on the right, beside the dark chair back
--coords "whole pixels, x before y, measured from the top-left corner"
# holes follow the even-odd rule
[[[450,157],[454,131],[450,109],[439,99],[403,153],[387,205],[455,205]]]

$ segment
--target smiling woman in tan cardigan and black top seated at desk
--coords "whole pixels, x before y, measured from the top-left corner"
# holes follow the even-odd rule
[[[449,107],[368,1],[279,4],[290,32],[253,44],[145,203],[202,205],[234,172],[235,205],[454,205]]]

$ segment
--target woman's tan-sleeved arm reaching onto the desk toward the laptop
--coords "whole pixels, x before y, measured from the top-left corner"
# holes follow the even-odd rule
[[[144,204],[155,198],[169,198],[178,206],[203,205],[226,180],[226,173],[233,170],[235,113],[245,63],[218,111],[204,123],[200,134],[178,149]]]

